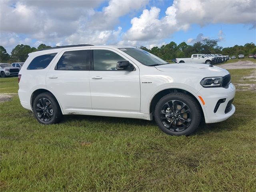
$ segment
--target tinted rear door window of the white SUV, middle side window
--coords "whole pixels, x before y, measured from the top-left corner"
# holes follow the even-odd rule
[[[89,70],[90,50],[67,51],[58,61],[56,70]]]

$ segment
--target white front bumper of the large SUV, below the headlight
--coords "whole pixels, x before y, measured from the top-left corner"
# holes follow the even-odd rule
[[[205,102],[203,105],[205,122],[221,122],[232,116],[236,110],[232,104],[235,94],[236,88],[232,83],[228,88],[202,88],[197,95]]]

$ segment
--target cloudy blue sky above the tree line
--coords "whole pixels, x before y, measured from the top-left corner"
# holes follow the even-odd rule
[[[256,42],[254,0],[2,0],[0,45]],[[220,35],[221,34],[221,35]]]

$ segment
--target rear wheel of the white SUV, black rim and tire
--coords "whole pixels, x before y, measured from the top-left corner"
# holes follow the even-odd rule
[[[41,124],[54,124],[62,119],[62,112],[58,101],[51,93],[39,94],[34,99],[32,105],[34,116]]]

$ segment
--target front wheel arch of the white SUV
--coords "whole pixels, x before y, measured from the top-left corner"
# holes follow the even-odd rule
[[[160,98],[162,98],[163,96],[169,94],[169,93],[174,93],[174,92],[180,92],[180,93],[184,93],[184,94],[188,94],[190,95],[192,98],[194,98],[196,100],[196,102],[198,103],[198,106],[200,106],[200,111],[202,113],[202,118],[204,118],[205,120],[205,116],[206,116],[206,112],[204,110],[204,107],[202,105],[202,102],[200,100],[200,98],[192,91],[190,90],[185,90],[182,88],[166,88],[164,90],[159,90],[158,92],[156,92],[150,99],[149,102],[149,114],[154,115],[154,109],[156,107],[157,102],[160,100]]]

